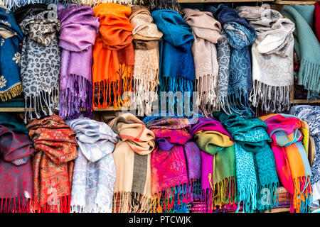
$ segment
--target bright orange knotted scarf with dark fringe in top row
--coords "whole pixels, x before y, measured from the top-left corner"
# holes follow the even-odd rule
[[[100,20],[92,52],[93,106],[101,109],[113,104],[114,109],[120,108],[129,101],[127,92],[132,91],[133,27],[128,18],[131,8],[106,3],[95,6],[93,11]]]

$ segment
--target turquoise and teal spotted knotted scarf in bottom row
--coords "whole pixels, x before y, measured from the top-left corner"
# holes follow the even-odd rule
[[[265,211],[277,206],[277,177],[274,155],[268,142],[267,124],[259,118],[214,114],[235,142],[235,170],[238,209],[243,212]]]

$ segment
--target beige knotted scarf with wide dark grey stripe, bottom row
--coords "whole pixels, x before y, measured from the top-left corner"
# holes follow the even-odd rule
[[[151,152],[154,133],[132,114],[122,114],[109,126],[119,135],[113,158],[117,170],[113,212],[151,211]]]

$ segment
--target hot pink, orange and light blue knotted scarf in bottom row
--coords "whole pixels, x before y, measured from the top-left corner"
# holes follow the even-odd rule
[[[267,123],[267,133],[272,138],[279,180],[291,194],[290,211],[308,212],[312,196],[311,169],[302,144],[302,123],[287,114],[270,114],[260,119]]]

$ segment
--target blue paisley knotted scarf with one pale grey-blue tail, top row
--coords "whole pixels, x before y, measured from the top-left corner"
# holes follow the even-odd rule
[[[213,13],[224,31],[217,46],[218,100],[221,109],[227,114],[251,114],[248,102],[252,87],[250,45],[255,42],[255,29],[229,6],[219,5],[218,9],[206,6],[205,10]]]

